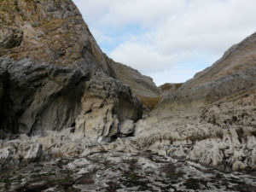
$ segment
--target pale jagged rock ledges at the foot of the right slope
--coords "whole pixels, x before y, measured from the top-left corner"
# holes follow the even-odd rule
[[[204,111],[194,111],[172,113],[166,119],[152,116],[140,120],[134,139],[137,146],[156,154],[192,160],[222,171],[256,169],[255,129],[246,125],[212,124],[203,120],[202,114],[208,117]]]

